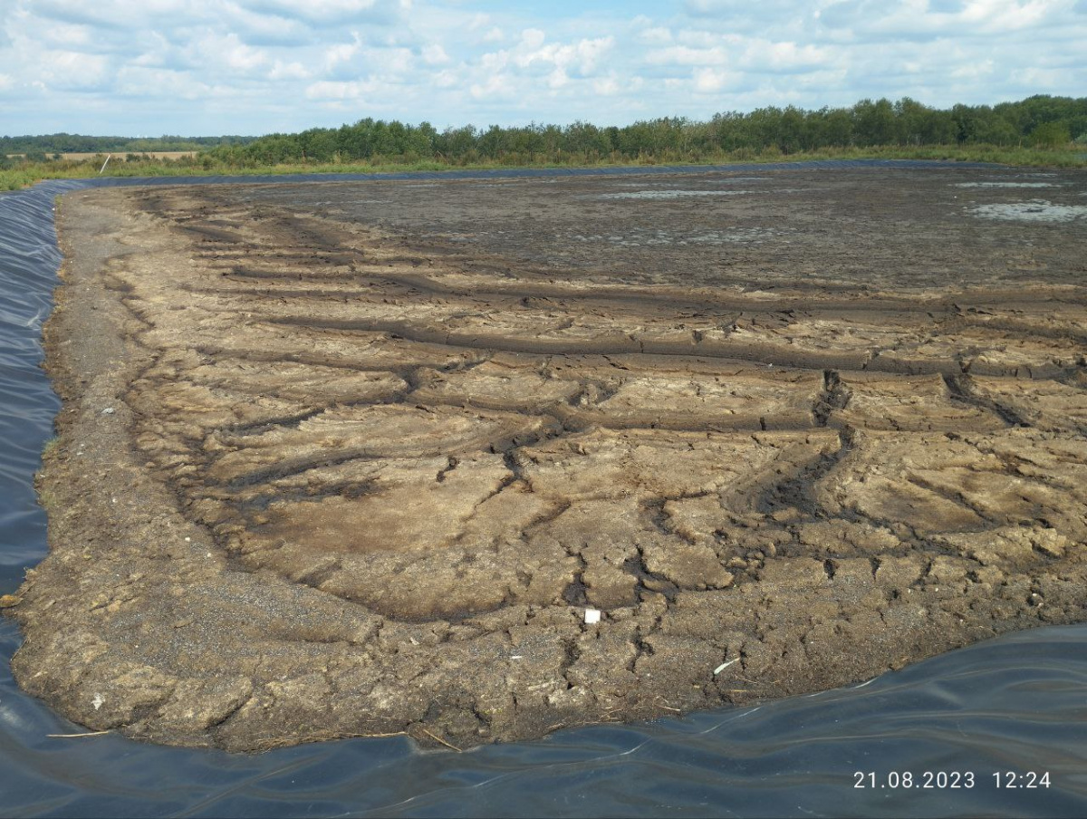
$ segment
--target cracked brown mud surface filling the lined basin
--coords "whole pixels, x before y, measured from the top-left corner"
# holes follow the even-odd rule
[[[1029,178],[71,195],[16,679],[466,747],[1082,620],[1087,220],[977,215]]]

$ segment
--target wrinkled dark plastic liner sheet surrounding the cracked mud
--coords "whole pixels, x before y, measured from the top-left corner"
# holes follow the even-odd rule
[[[891,163],[805,167],[846,172],[859,164]],[[727,170],[771,167],[777,166]],[[607,172],[685,170],[710,169]],[[457,176],[549,173],[570,172]],[[428,175],[411,177],[420,176]],[[376,177],[234,181],[332,178]],[[46,554],[33,474],[60,406],[39,367],[41,322],[60,262],[53,199],[93,184],[179,182],[186,181],[51,182],[0,195],[0,594],[14,592],[24,569]],[[20,642],[14,624],[0,620],[4,817],[1087,816],[1087,625],[1009,635],[849,690],[567,730],[464,754],[421,753],[404,737],[253,756],[142,745],[114,734],[50,737],[83,729],[12,682],[10,658]],[[904,786],[908,775],[912,787]],[[960,787],[939,786],[953,783]]]

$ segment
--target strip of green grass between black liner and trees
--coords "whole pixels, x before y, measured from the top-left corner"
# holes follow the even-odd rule
[[[85,160],[14,161],[0,169],[0,190],[17,190],[43,179],[85,179],[99,175],[105,157]],[[562,153],[561,156],[510,154],[498,160],[450,162],[411,157],[374,157],[365,162],[257,164],[224,162],[210,154],[141,161],[111,161],[103,176],[212,176],[292,173],[380,173],[403,171],[488,170],[500,167],[607,167],[663,164],[729,164],[740,162],[804,162],[830,159],[925,159],[952,162],[992,162],[1025,167],[1087,167],[1087,150],[1074,148],[1000,148],[987,145],[823,148],[783,153],[770,148],[715,153],[661,151],[630,158],[622,154]]]

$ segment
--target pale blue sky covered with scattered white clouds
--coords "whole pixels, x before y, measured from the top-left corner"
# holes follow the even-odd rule
[[[1087,0],[0,0],[0,135],[1087,95]]]

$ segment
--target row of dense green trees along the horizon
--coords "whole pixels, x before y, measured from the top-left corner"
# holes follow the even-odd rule
[[[997,106],[924,106],[908,97],[891,102],[864,99],[850,108],[815,111],[761,108],[727,112],[709,121],[662,117],[626,126],[587,122],[438,131],[366,117],[339,128],[271,134],[249,142],[221,145],[211,158],[233,166],[295,163],[435,160],[473,162],[575,162],[604,159],[691,159],[835,148],[988,145],[1057,148],[1087,142],[1087,98],[1035,96]]]

